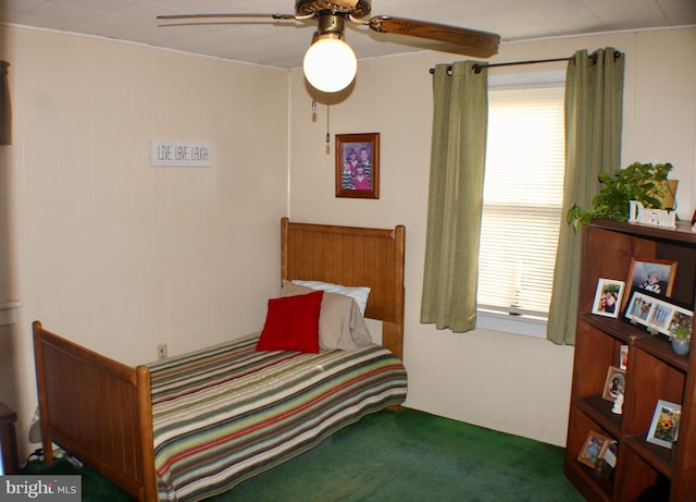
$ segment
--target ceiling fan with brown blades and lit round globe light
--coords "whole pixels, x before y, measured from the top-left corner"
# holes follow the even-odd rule
[[[167,22],[162,26],[234,23],[234,20],[254,17],[269,19],[269,22],[316,19],[318,28],[304,54],[303,68],[309,83],[324,93],[346,88],[356,75],[356,54],[345,42],[347,21],[381,34],[428,40],[427,48],[444,52],[477,58],[489,58],[498,52],[499,35],[391,15],[366,19],[372,11],[371,3],[372,0],[295,0],[295,14],[196,13],[158,15],[157,19]]]

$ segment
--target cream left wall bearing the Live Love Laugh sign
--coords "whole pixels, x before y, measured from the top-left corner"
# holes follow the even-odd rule
[[[36,406],[30,322],[126,364],[260,330],[279,284],[288,73],[8,28],[14,143],[0,399]],[[148,142],[214,144],[212,168],[152,168]],[[8,384],[9,383],[9,384]]]

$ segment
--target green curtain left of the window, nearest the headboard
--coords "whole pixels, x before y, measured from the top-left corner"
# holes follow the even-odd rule
[[[438,64],[421,322],[461,333],[476,326],[478,242],[488,130],[488,75],[475,61]],[[480,63],[478,63],[480,64]]]

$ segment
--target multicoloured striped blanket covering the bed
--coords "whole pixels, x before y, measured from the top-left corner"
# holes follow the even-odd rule
[[[371,345],[256,352],[258,334],[150,365],[160,500],[200,500],[406,399],[406,369]]]

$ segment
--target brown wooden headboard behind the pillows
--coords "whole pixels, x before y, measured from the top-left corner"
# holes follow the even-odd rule
[[[365,317],[383,321],[382,345],[403,359],[406,228],[294,223],[281,220],[283,279],[369,286]]]

